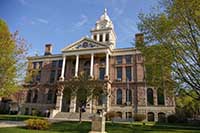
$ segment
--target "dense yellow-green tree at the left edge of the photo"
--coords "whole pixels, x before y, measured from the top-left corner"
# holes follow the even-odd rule
[[[11,34],[6,23],[0,19],[0,97],[17,91],[24,75],[26,41]]]

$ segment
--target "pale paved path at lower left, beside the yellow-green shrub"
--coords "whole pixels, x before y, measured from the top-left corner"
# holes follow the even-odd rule
[[[0,128],[17,126],[25,126],[25,123],[23,121],[0,121]]]

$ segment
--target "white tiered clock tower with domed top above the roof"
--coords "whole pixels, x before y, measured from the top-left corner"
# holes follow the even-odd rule
[[[114,25],[107,14],[107,10],[104,10],[103,15],[96,21],[95,27],[91,30],[91,38],[95,41],[105,43],[110,48],[115,48],[116,34],[114,31]]]

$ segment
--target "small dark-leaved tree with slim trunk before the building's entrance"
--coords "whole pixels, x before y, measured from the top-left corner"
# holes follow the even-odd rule
[[[90,79],[86,73],[79,77],[74,77],[62,83],[64,85],[63,93],[71,97],[76,97],[76,103],[79,107],[79,121],[82,122],[83,107],[93,99],[98,99],[102,95],[107,95],[105,82]]]

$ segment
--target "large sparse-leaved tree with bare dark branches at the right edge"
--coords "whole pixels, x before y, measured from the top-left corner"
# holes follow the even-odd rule
[[[160,44],[171,55],[165,61],[172,62],[176,83],[192,89],[197,95],[191,96],[200,99],[200,1],[163,0],[160,7],[160,11],[141,13],[138,27],[148,44]]]

